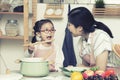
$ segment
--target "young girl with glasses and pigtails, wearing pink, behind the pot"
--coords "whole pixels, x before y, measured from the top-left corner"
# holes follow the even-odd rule
[[[33,57],[43,58],[49,62],[50,71],[57,71],[63,66],[64,56],[62,50],[53,43],[55,34],[53,23],[48,19],[37,21],[34,26],[34,37],[32,43],[41,42],[28,47],[29,53]]]

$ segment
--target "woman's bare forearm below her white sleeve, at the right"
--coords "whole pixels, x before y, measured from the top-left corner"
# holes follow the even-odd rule
[[[96,57],[96,66],[98,66],[100,70],[106,70],[107,60],[108,51],[103,51],[100,55]]]

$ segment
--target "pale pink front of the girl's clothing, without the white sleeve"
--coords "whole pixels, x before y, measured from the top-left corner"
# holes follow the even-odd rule
[[[46,61],[55,62],[56,51],[54,45],[45,47],[42,44],[36,45],[34,50],[34,57],[41,57]]]

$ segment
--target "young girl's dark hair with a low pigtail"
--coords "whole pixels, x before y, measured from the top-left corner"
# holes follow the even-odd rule
[[[33,27],[33,29],[34,29],[34,36],[33,36],[32,41],[31,41],[32,43],[37,42],[36,33],[40,32],[42,25],[45,24],[45,23],[51,23],[53,25],[52,21],[49,20],[49,19],[42,19],[42,20],[39,20],[39,21],[37,21],[35,23],[35,25]]]

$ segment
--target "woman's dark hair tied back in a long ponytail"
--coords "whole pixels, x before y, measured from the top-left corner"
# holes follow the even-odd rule
[[[83,27],[85,33],[94,32],[95,28],[101,29],[113,38],[111,30],[102,22],[94,19],[92,13],[85,7],[77,7],[68,13],[68,22],[72,23],[76,28]]]

